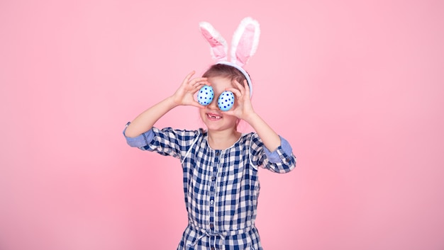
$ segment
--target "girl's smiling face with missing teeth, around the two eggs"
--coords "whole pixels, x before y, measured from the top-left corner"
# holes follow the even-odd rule
[[[233,115],[223,114],[223,112],[219,109],[217,105],[218,96],[220,96],[226,88],[233,87],[231,80],[216,76],[209,78],[208,81],[213,87],[214,98],[213,101],[211,101],[211,103],[206,106],[206,108],[201,108],[199,110],[202,121],[205,123],[206,127],[208,127],[209,130],[221,131],[233,129],[233,127],[235,128],[238,118]],[[233,108],[235,108],[236,104],[237,103],[235,100]]]

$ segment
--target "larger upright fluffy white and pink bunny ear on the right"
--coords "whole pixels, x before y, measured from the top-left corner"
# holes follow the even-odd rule
[[[259,23],[250,17],[243,18],[231,42],[231,62],[243,67],[255,55],[259,44]]]

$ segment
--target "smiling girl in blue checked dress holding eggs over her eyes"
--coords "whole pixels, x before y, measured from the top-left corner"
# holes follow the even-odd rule
[[[177,249],[260,250],[255,227],[260,184],[258,168],[276,173],[294,169],[296,159],[287,140],[255,113],[250,101],[250,77],[230,63],[212,65],[202,77],[188,74],[172,96],[155,104],[126,125],[131,147],[176,157],[182,163],[188,226]],[[214,96],[234,93],[231,110],[222,111],[214,98],[207,106],[195,101],[202,86]],[[177,106],[199,108],[206,130],[153,127]],[[255,132],[240,133],[245,120]]]

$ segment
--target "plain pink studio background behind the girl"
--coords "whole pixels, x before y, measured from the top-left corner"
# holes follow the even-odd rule
[[[443,1],[0,2],[0,249],[175,249],[179,161],[135,115],[261,23],[253,105],[298,157],[260,172],[265,249],[444,249]],[[158,126],[195,128],[180,107]],[[262,169],[263,170],[263,169]]]

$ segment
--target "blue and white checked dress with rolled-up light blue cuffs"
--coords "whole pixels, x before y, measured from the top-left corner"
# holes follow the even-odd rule
[[[257,170],[261,166],[276,173],[291,171],[296,164],[292,147],[281,137],[281,146],[270,152],[250,132],[228,149],[215,150],[209,147],[207,135],[202,129],[152,127],[126,140],[131,147],[182,162],[188,226],[177,249],[261,250],[255,227],[260,190]]]

